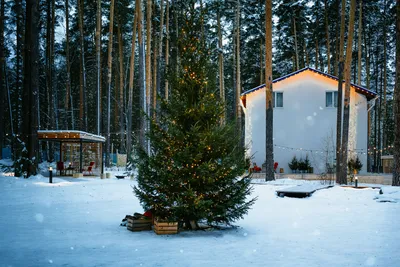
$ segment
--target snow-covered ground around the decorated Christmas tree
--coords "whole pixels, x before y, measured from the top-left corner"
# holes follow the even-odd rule
[[[238,228],[157,236],[119,226],[142,212],[133,180],[0,176],[0,266],[400,266],[400,203],[338,186],[278,198],[282,181],[254,185]]]

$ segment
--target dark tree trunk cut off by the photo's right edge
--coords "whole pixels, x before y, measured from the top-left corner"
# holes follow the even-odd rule
[[[394,89],[393,186],[400,186],[400,1],[396,7],[396,85]]]

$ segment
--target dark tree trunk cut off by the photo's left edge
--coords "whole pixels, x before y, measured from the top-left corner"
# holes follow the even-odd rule
[[[6,113],[4,108],[4,102],[6,99],[6,87],[5,87],[5,59],[4,59],[4,1],[1,0],[0,3],[0,110],[2,111],[0,114],[0,159],[3,158],[2,148],[4,143],[4,122]],[[12,121],[10,121],[12,124]]]

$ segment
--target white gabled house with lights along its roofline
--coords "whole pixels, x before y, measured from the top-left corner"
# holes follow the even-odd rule
[[[288,163],[308,158],[314,173],[327,171],[335,161],[338,79],[304,68],[273,81],[274,161],[278,170],[290,173]],[[344,89],[344,83],[343,83]],[[368,154],[368,107],[377,94],[351,84],[349,157],[358,155],[366,172]],[[265,161],[265,85],[241,95],[245,113],[245,143],[252,162]],[[374,102],[374,101],[371,101]]]

